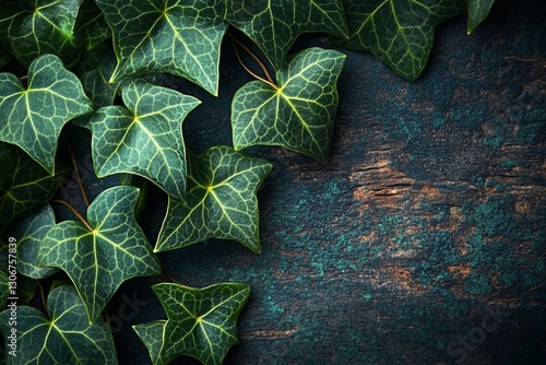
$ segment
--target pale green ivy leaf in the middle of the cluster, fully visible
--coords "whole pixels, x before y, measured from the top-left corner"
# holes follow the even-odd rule
[[[121,106],[98,109],[90,120],[98,177],[144,176],[175,199],[186,195],[182,120],[201,102],[144,80],[128,82]]]

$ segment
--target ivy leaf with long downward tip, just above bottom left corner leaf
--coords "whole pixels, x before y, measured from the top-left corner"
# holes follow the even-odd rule
[[[161,271],[146,236],[134,220],[139,189],[109,188],[87,209],[90,227],[66,221],[48,231],[38,264],[64,270],[95,321],[121,283]]]

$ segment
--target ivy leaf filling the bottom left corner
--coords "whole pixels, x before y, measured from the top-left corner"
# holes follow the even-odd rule
[[[8,355],[10,364],[117,364],[108,327],[100,318],[87,322],[85,307],[72,286],[52,290],[47,311],[48,317],[34,307],[17,307],[17,350],[16,356]],[[4,339],[11,332],[10,315],[10,309],[0,314]],[[9,345],[5,351],[11,351]]]

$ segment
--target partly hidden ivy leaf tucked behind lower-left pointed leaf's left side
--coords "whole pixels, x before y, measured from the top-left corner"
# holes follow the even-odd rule
[[[39,244],[52,226],[55,213],[49,204],[17,221],[12,236],[17,237],[17,270],[21,274],[32,279],[45,279],[58,271],[56,268],[39,268],[37,264]]]

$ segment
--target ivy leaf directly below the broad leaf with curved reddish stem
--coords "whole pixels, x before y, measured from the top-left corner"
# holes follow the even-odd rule
[[[191,156],[189,164],[186,201],[169,197],[155,251],[221,238],[260,252],[256,192],[272,165],[222,145]]]

